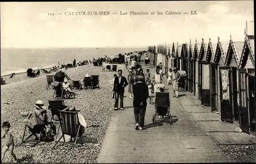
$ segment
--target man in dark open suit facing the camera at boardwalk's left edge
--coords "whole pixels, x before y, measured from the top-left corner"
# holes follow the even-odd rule
[[[118,70],[118,76],[114,80],[114,87],[113,87],[113,92],[115,93],[115,106],[114,110],[117,110],[118,107],[118,100],[120,96],[120,109],[123,110],[123,93],[124,93],[124,88],[128,85],[128,82],[125,77],[122,76],[122,70]]]

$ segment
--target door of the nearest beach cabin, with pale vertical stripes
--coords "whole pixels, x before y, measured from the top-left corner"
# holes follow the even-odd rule
[[[239,122],[243,132],[249,133],[249,110],[247,96],[247,74],[246,69],[239,70],[239,98],[240,111]]]

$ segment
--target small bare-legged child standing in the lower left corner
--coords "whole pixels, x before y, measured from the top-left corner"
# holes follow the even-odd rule
[[[10,131],[10,127],[11,125],[7,121],[4,122],[2,125],[2,139],[5,138],[5,147],[2,150],[2,162],[8,149],[10,149],[13,159],[17,162],[16,155],[13,153],[14,147],[17,146],[17,141],[15,135]]]

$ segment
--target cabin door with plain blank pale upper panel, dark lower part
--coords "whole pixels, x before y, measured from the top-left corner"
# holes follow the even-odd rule
[[[201,105],[210,106],[210,65],[202,64],[202,101]]]

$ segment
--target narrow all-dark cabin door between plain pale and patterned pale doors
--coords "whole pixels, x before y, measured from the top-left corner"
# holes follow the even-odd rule
[[[210,64],[210,107],[216,110],[216,65]]]

